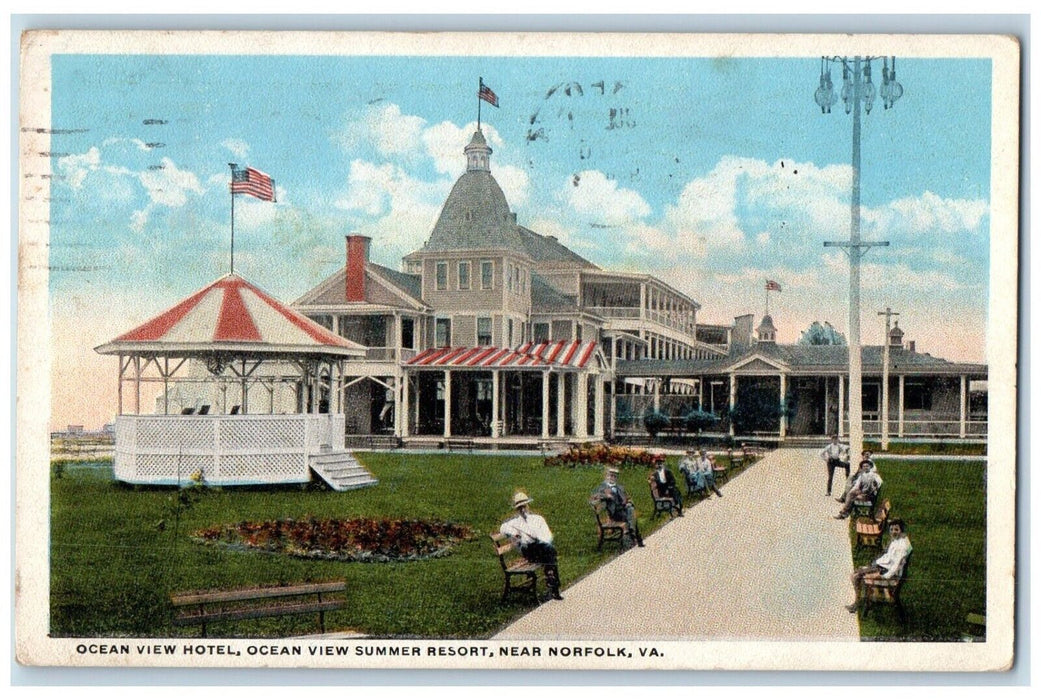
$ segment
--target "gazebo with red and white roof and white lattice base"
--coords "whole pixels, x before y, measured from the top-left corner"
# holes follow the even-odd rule
[[[365,354],[233,273],[95,351],[119,356],[116,478],[214,485],[302,483],[345,454],[344,367]]]

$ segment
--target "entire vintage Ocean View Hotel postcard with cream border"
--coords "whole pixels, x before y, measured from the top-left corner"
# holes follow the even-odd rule
[[[1014,38],[21,49],[20,664],[1013,664]]]

